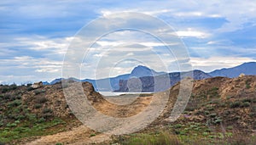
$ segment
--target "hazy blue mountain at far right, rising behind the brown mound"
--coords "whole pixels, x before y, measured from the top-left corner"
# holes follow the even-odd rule
[[[234,78],[241,73],[245,75],[256,75],[256,62],[244,63],[233,68],[214,70],[209,75]]]

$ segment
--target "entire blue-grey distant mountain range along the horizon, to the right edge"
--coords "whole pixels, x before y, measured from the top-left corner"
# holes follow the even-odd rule
[[[191,75],[193,74],[193,76]],[[193,70],[189,72],[172,72],[172,73],[166,73],[166,72],[157,72],[155,70],[149,69],[146,66],[138,65],[133,70],[131,70],[130,74],[125,75],[118,75],[116,77],[111,78],[105,78],[105,79],[99,79],[99,80],[91,80],[91,79],[84,79],[79,80],[76,78],[69,78],[73,81],[88,81],[90,82],[96,89],[97,92],[128,92],[128,81],[133,83],[140,81],[142,83],[143,88],[141,90],[143,92],[159,92],[164,91],[168,89],[169,87],[175,85],[178,81],[181,80],[181,74],[183,76],[192,76],[195,80],[202,80],[207,79],[215,76],[224,76],[229,78],[234,78],[240,75],[241,73],[245,75],[256,75],[256,62],[250,62],[250,63],[244,63],[241,65],[238,65],[233,68],[228,69],[221,69],[221,70],[214,70],[210,73],[205,73],[201,70]],[[137,78],[139,80],[135,81],[134,78]],[[165,78],[165,79],[164,79]],[[51,81],[49,84],[53,85],[55,83],[58,83],[63,78],[55,79],[54,81]],[[154,88],[155,85],[155,79],[160,79],[157,81],[162,81],[165,83],[158,83],[158,86]],[[169,80],[168,82],[166,80]],[[132,86],[132,83],[130,82],[130,86]],[[109,85],[110,83],[110,85]],[[47,82],[44,82],[45,85],[47,85]]]

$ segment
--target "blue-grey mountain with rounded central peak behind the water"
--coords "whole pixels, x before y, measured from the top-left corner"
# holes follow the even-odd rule
[[[160,92],[165,91],[171,86],[175,85],[181,80],[181,77],[191,76],[193,73],[193,78],[195,80],[201,80],[212,77],[201,70],[193,70],[189,72],[157,72],[155,70],[149,69],[146,66],[138,65],[133,70],[131,74],[118,75],[116,77],[110,77],[99,80],[84,79],[79,80],[76,78],[68,78],[73,81],[88,81],[90,82],[97,92]],[[138,80],[139,79],[139,80]],[[61,82],[61,80],[67,80],[63,78],[55,79],[49,84],[53,85],[55,83]],[[138,83],[142,83],[139,85]],[[138,88],[141,87],[141,88]]]

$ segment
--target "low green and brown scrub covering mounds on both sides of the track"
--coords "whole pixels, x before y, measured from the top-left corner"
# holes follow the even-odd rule
[[[159,119],[143,131],[113,136],[111,143],[253,145],[256,142],[253,132],[256,130],[254,81],[253,76],[194,81],[198,87],[194,88],[187,108],[175,122],[165,121],[172,111],[172,106],[167,106]],[[175,93],[177,90],[174,88],[177,87],[172,87],[171,92]],[[32,141],[33,137],[53,135],[81,125],[65,102],[61,84],[37,89],[15,84],[2,85],[0,92],[0,145],[22,144]],[[153,95],[143,93],[140,97],[145,99]],[[97,135],[91,131],[88,137]],[[55,142],[55,145],[61,144],[67,142]]]

